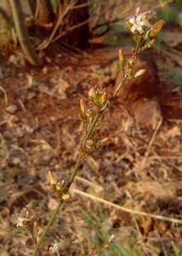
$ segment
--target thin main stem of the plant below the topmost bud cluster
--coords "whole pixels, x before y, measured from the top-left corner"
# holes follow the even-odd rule
[[[87,131],[87,134],[85,135],[85,138],[83,139],[83,142],[81,144],[82,148],[85,149],[85,146],[87,144],[87,139],[89,139],[92,135],[93,130],[96,127],[96,124],[98,122],[98,120],[100,119],[100,116],[103,114],[103,112],[105,112],[105,110],[107,110],[107,108],[109,107],[109,105],[111,105],[111,103],[113,102],[114,98],[117,96],[117,93],[119,92],[119,90],[124,86],[124,83],[127,80],[127,75],[124,75],[124,79],[122,80],[122,82],[120,82],[120,84],[118,85],[118,87],[116,88],[116,90],[114,90],[114,93],[112,95],[112,97],[110,98],[110,100],[107,102],[107,104],[102,108],[102,110],[100,110],[100,112],[97,112],[97,114],[95,115],[95,118],[93,119],[92,123],[90,124],[90,128]],[[65,189],[63,191],[63,193],[68,193],[71,184],[74,181],[74,178],[77,174],[77,171],[80,169],[80,164],[82,163],[82,156],[80,155],[77,159],[77,162],[75,164],[75,168],[73,169],[73,172],[70,174],[70,178],[68,180],[67,185],[65,186]],[[50,228],[50,226],[53,224],[56,215],[58,214],[58,211],[60,210],[60,207],[63,205],[63,199],[60,199],[60,202],[58,203],[57,208],[53,211],[53,214],[50,217],[50,220],[48,222],[48,225],[45,227],[45,230],[43,231],[41,238],[38,240],[38,243],[34,249],[33,252],[33,256],[38,255],[38,251],[41,247],[41,244],[43,242],[43,240],[45,239],[45,236],[48,233],[48,230]]]

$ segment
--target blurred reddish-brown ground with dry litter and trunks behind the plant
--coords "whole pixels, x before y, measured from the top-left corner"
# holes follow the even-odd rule
[[[105,203],[72,193],[40,256],[55,244],[54,255],[65,256],[182,255],[181,0],[0,1],[0,255],[32,255],[33,239],[16,220],[33,209],[43,231],[58,204],[48,171],[66,180],[73,169],[80,98],[95,85],[113,92],[118,50],[130,55],[134,46],[126,21],[137,7],[165,26],[139,58],[146,75],[102,120],[95,139],[109,136],[108,144],[82,163],[73,187]]]

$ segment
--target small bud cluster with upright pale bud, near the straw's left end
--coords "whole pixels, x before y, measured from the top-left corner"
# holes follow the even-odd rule
[[[64,193],[65,181],[61,181],[60,178],[55,177],[51,171],[48,171],[48,178],[50,181],[51,191],[55,197],[58,199],[68,200],[70,196],[67,193]]]

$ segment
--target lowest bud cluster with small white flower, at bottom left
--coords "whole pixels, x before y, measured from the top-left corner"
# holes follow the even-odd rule
[[[26,228],[32,235],[33,240],[37,241],[39,221],[38,215],[34,210],[27,210],[23,216],[18,216],[17,219],[12,219],[12,223],[16,224],[17,228]]]

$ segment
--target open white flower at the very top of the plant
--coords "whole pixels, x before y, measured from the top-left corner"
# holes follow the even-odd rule
[[[149,22],[147,22],[146,19],[147,12],[144,11],[138,16],[133,16],[132,18],[129,18],[129,23],[132,24],[131,31],[132,33],[135,33],[138,31],[140,34],[144,33],[143,27],[146,26],[148,28],[152,28],[153,25]]]

